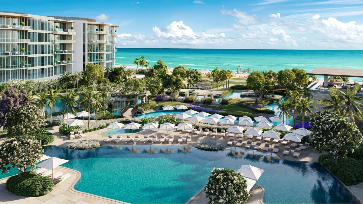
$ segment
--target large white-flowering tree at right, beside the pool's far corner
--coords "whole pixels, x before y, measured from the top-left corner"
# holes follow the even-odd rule
[[[362,145],[363,136],[354,121],[328,111],[317,111],[310,117],[311,143],[321,152],[327,150],[338,163],[338,155],[345,157],[348,150]]]

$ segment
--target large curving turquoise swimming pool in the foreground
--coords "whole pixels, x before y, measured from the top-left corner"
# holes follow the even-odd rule
[[[265,170],[257,184],[265,203],[357,203],[321,164],[282,160],[268,152],[231,148],[208,152],[189,146],[107,146],[92,150],[43,147],[81,172],[78,191],[128,203],[185,203],[207,183],[213,167]],[[101,184],[102,185],[99,185]]]

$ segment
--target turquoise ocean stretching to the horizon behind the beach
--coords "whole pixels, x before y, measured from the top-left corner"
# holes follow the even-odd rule
[[[301,68],[306,72],[319,67],[363,69],[363,50],[117,48],[116,65],[136,66],[132,62],[140,56],[144,56],[151,66],[162,59],[170,68],[182,65],[208,71],[218,67],[236,72],[238,66],[275,72],[286,68]],[[351,79],[363,81],[363,78]]]

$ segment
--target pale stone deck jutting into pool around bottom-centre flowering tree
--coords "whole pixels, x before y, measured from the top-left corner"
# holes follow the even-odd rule
[[[258,184],[254,184],[253,195],[248,199],[248,203],[264,203],[265,189]],[[191,197],[186,203],[208,203],[208,199],[205,197],[204,187],[200,189],[193,197]]]

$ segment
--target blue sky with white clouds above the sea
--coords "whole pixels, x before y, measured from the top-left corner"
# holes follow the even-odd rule
[[[118,48],[363,47],[363,0],[18,0],[1,10],[112,23]]]

